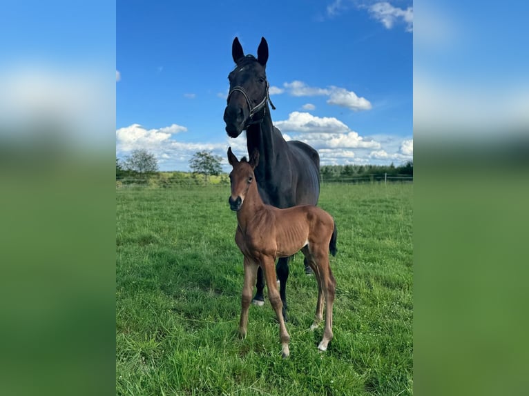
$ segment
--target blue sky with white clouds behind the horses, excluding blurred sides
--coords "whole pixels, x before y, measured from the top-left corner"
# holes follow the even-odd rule
[[[413,155],[411,1],[117,1],[116,154],[189,170],[198,150],[243,155],[222,115],[238,37],[267,77],[285,139],[322,164],[402,164]]]

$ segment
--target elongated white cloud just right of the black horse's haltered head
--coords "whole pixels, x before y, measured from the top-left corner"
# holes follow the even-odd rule
[[[354,111],[370,110],[371,103],[364,97],[358,97],[356,93],[348,91],[345,88],[336,86],[329,86],[327,88],[318,88],[307,86],[303,81],[292,81],[291,83],[284,83],[283,86],[289,95],[295,97],[313,97],[313,96],[328,96],[327,103],[340,107],[349,108]]]

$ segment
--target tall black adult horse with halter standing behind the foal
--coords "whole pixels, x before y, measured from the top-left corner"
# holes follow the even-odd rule
[[[244,56],[242,46],[235,37],[231,55],[236,66],[228,76],[230,89],[224,110],[226,132],[230,137],[238,137],[246,130],[248,152],[258,150],[260,161],[255,172],[264,203],[276,208],[316,205],[320,195],[320,157],[314,148],[301,141],[285,141],[280,130],[272,125],[268,102],[274,107],[269,99],[265,72],[268,43],[264,37],[257,54],[257,58]],[[306,260],[305,268],[309,268]],[[280,282],[282,313],[287,319],[288,257],[278,260],[276,273]],[[264,304],[263,289],[264,279],[259,269],[254,304]]]

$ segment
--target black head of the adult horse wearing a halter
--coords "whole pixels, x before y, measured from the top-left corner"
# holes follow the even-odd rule
[[[231,56],[237,66],[228,75],[229,94],[228,105],[224,110],[224,122],[228,135],[238,137],[252,123],[262,121],[267,101],[270,100],[269,84],[265,72],[268,43],[262,37],[257,50],[257,58],[253,55],[244,56],[239,39],[235,37],[231,46]],[[273,108],[273,105],[271,106]],[[256,117],[260,112],[262,116]]]

